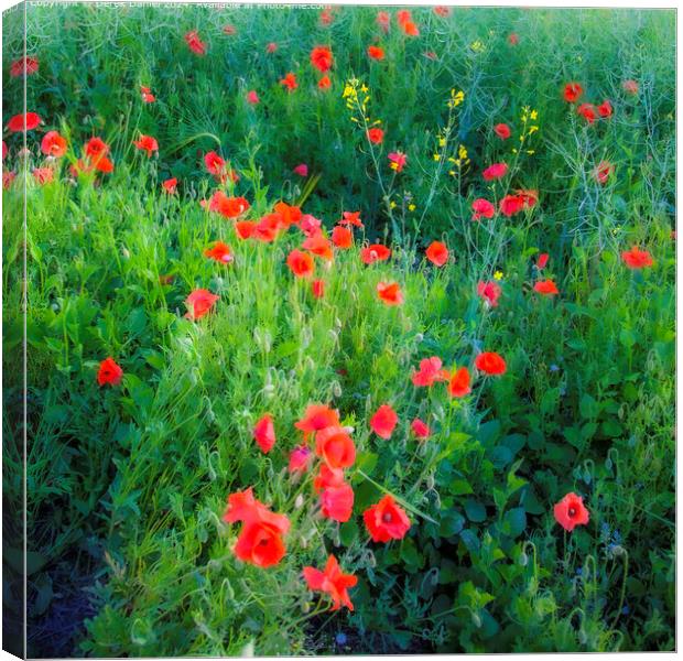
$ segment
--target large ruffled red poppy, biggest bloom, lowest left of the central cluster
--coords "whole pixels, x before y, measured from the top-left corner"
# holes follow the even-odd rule
[[[259,502],[251,487],[228,497],[223,520],[227,523],[242,521],[235,545],[235,555],[239,560],[259,567],[270,567],[284,557],[286,550],[282,535],[290,530],[290,520]]]

